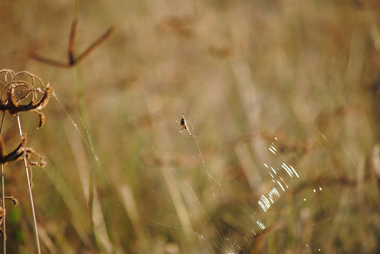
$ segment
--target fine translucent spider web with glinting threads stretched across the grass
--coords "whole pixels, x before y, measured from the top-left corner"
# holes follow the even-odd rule
[[[71,107],[55,96],[59,107]],[[187,109],[185,119],[194,139],[177,132],[174,118],[180,118],[182,110],[168,116],[88,96],[109,105],[98,112],[112,111],[108,117],[119,119],[115,126],[108,126],[111,121],[104,114],[104,124],[88,132],[77,110],[65,112],[87,140],[101,167],[100,178],[120,207],[122,215],[112,215],[109,224],[124,225],[115,229],[127,235],[120,244],[124,251],[327,253],[339,251],[348,241],[338,233],[348,206],[344,190],[350,184],[342,174],[355,170],[357,158],[339,138],[323,133],[323,126],[340,119],[253,123],[213,120],[210,114],[204,121]],[[104,128],[114,130],[107,134],[108,147],[115,149],[108,155],[120,153],[111,159],[100,155],[105,145],[97,133]]]

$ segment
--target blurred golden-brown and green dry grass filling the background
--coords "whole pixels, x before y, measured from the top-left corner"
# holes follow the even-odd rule
[[[41,130],[33,115],[21,116],[28,146],[48,161],[33,176],[43,253],[211,252],[207,244],[189,248],[194,240],[186,230],[170,233],[175,229],[159,229],[158,223],[185,224],[217,239],[215,225],[225,214],[212,211],[215,197],[202,172],[229,179],[239,167],[226,166],[220,145],[233,161],[251,153],[260,161],[255,148],[275,136],[283,137],[285,150],[297,153],[296,163],[306,170],[286,200],[292,203],[314,181],[328,191],[310,203],[295,202],[307,209],[279,205],[273,216],[288,209],[282,222],[287,226],[271,232],[261,251],[305,253],[321,246],[324,253],[379,252],[378,1],[2,5],[2,69],[36,74],[59,99],[52,96],[44,109]],[[71,68],[30,57],[66,62],[74,19],[78,55],[109,27],[115,32]],[[173,120],[183,109],[197,143],[176,131]],[[6,124],[5,141],[16,144],[16,123],[9,118]],[[237,144],[249,150],[239,153]],[[207,156],[205,164],[199,155]],[[8,208],[8,253],[35,250],[24,178],[17,166],[6,169],[6,195],[20,201]],[[240,186],[231,189],[247,194]],[[189,215],[198,221],[186,224]],[[318,226],[307,229],[312,224]],[[180,243],[185,249],[177,250]],[[249,245],[244,251],[254,253]]]

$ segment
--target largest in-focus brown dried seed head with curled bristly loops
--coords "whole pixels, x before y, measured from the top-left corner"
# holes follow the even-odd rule
[[[27,71],[15,73],[11,69],[3,69],[0,74],[4,77],[0,80],[0,84],[3,85],[0,112],[8,112],[11,115],[17,115],[19,112],[36,112],[40,117],[38,128],[41,128],[45,117],[39,110],[49,101],[51,86],[47,84],[45,87],[39,77]]]

